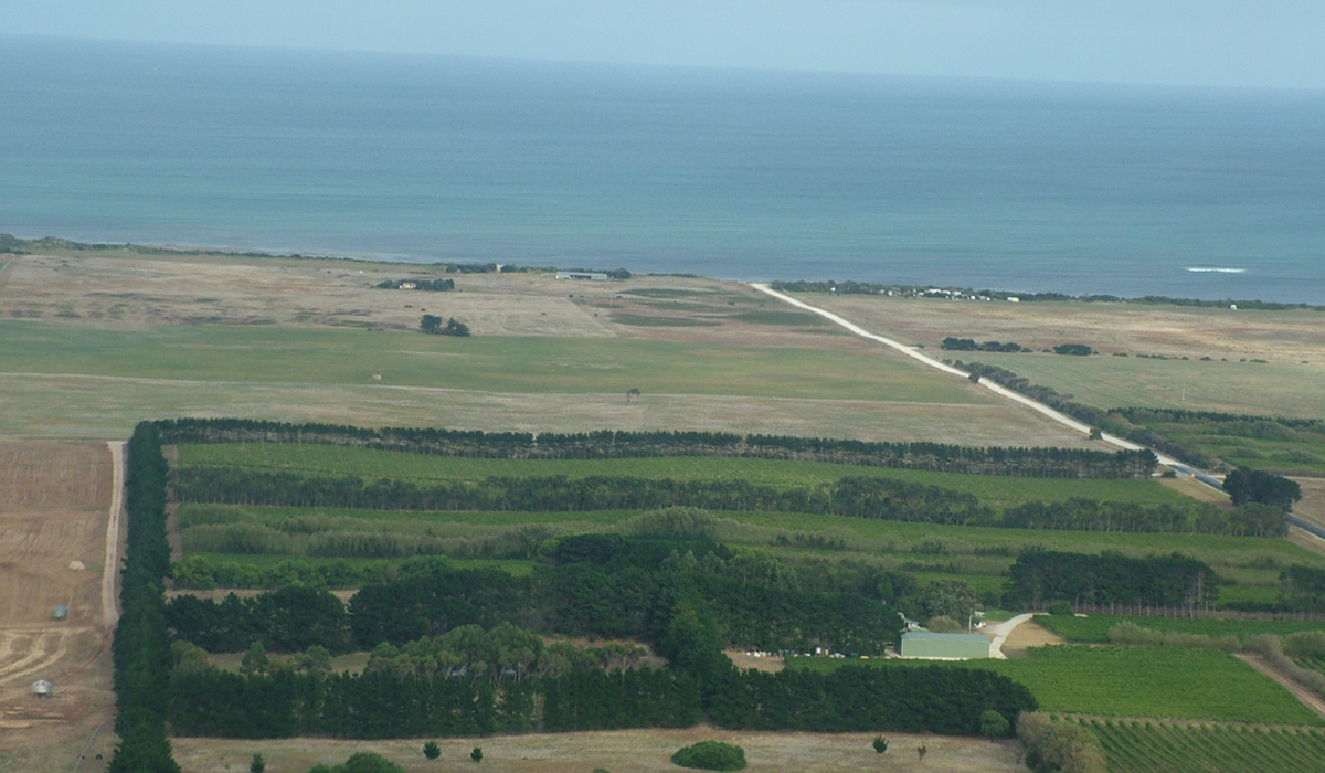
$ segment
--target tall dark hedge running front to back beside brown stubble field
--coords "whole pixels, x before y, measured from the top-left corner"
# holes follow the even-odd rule
[[[115,733],[121,741],[106,770],[179,773],[166,737],[171,639],[162,614],[162,578],[170,571],[170,545],[166,541],[167,465],[156,427],[146,422],[138,424],[126,456],[127,537],[119,626],[111,643],[118,709]]]

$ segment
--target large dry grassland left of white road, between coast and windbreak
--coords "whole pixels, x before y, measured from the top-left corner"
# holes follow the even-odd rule
[[[449,274],[456,290],[425,293],[374,285],[448,274],[127,251],[20,256],[5,276],[0,438],[111,439],[203,415],[1086,446],[731,282]],[[425,309],[473,338],[413,333]],[[632,387],[643,399],[627,404]]]

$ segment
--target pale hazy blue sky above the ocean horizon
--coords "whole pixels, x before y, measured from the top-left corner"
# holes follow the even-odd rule
[[[1321,0],[0,0],[0,33],[1325,89]]]

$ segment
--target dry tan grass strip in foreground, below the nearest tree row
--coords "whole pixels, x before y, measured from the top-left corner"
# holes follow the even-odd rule
[[[355,752],[376,752],[405,770],[437,770],[474,766],[469,750],[484,750],[484,770],[498,773],[587,773],[606,768],[612,773],[674,772],[670,756],[681,746],[704,740],[738,744],[750,770],[768,773],[828,773],[840,770],[916,770],[938,773],[1024,770],[1018,764],[1016,744],[991,744],[977,739],[908,736],[885,733],[889,750],[876,754],[873,735],[841,733],[742,733],[712,728],[613,731],[566,735],[500,736],[490,739],[437,740],[441,758],[425,760],[415,741],[217,741],[175,739],[175,757],[187,773],[242,770],[254,752],[261,752],[269,770],[307,770],[318,762],[339,764]],[[924,762],[916,749],[926,746]],[[441,768],[439,768],[439,765]]]

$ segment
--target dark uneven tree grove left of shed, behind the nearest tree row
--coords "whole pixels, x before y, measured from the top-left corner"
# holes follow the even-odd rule
[[[179,638],[213,652],[241,652],[257,639],[281,652],[344,651],[351,640],[404,647],[502,623],[657,640],[678,601],[704,599],[723,646],[878,654],[900,635],[897,609],[924,614],[924,594],[906,575],[872,566],[792,567],[705,541],[584,534],[563,538],[529,577],[407,561],[394,579],[364,585],[348,614],[325,590],[282,587],[221,602],[182,595],[166,619]]]

